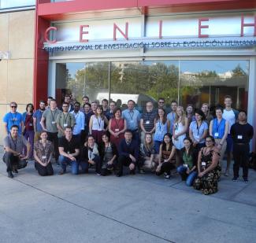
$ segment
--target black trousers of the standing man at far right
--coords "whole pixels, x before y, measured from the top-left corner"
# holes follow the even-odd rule
[[[243,167],[243,178],[248,178],[248,169],[249,169],[249,153],[250,153],[250,145],[238,145],[234,143],[233,145],[233,172],[234,177],[239,177],[239,168]]]

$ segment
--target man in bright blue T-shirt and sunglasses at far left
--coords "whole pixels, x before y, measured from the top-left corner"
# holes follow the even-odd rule
[[[21,134],[24,129],[24,122],[22,120],[22,115],[17,112],[17,103],[11,102],[9,104],[9,107],[11,111],[7,113],[6,116],[4,116],[3,118],[6,134],[10,133],[11,127],[13,125],[17,125],[19,127],[18,133]]]

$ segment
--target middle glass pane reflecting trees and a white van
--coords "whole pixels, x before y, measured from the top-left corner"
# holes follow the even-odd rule
[[[179,69],[177,61],[113,62],[111,65],[110,98],[122,109],[128,100],[143,112],[147,101],[157,107],[158,98],[165,98],[166,109],[178,97]]]

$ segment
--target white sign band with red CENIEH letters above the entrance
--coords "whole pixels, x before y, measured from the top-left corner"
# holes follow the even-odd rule
[[[256,17],[152,17],[57,23],[45,31],[44,50],[125,50],[248,47],[256,44]],[[48,35],[51,32],[52,38]]]

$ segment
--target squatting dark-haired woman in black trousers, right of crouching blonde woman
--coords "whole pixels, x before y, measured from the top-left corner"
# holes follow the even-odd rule
[[[163,142],[160,145],[158,156],[158,167],[156,169],[156,175],[162,175],[165,173],[165,179],[171,177],[171,170],[175,169],[176,148],[173,145],[171,134],[164,135]]]

